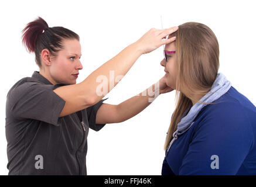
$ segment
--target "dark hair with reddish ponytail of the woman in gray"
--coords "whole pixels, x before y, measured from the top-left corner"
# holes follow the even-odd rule
[[[22,43],[26,49],[35,53],[36,64],[42,67],[40,56],[43,49],[49,50],[53,57],[63,49],[63,39],[80,40],[78,34],[64,27],[49,27],[45,20],[38,17],[33,22],[28,23],[22,30]]]

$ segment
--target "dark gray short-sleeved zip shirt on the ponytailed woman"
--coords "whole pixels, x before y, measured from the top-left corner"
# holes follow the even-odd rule
[[[5,133],[9,175],[86,175],[87,135],[105,99],[59,117],[65,101],[35,71],[12,86],[6,100]]]

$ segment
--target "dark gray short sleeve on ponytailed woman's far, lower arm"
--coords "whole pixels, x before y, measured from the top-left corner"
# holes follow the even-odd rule
[[[103,101],[105,100],[106,99],[101,99],[101,101],[97,102],[95,105],[90,106],[86,109],[89,127],[95,131],[99,131],[105,126],[105,124],[96,124],[97,111],[100,108],[100,106],[103,105]]]

